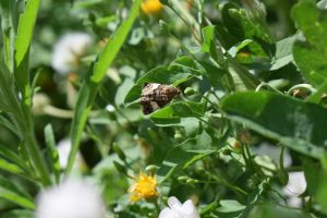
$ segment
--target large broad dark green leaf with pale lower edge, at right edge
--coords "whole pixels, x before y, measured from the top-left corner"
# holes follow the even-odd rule
[[[268,92],[244,92],[226,97],[221,108],[231,120],[303,155],[319,158],[327,146],[327,109],[317,105]]]

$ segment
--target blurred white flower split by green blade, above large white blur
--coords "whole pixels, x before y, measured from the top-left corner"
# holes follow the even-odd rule
[[[60,141],[57,145],[57,149],[59,154],[60,166],[62,169],[65,169],[68,166],[70,152],[72,149],[71,141],[69,138],[64,138]],[[84,167],[84,160],[81,153],[78,152],[73,168],[83,168],[83,167]]]

